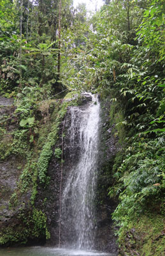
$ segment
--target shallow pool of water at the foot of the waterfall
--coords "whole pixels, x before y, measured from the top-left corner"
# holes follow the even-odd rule
[[[0,249],[0,256],[116,256],[114,253],[104,253],[89,250],[59,249],[54,247],[32,246],[24,248]]]

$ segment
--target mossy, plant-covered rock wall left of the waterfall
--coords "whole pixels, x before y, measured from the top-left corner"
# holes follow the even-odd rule
[[[25,123],[22,127],[22,116],[17,118],[11,131],[5,122],[0,125],[1,245],[45,242],[50,238],[45,198],[38,196],[37,204],[36,195],[39,184],[45,189],[50,180],[48,164],[71,104],[76,104],[76,100],[40,102],[31,113],[32,125]]]

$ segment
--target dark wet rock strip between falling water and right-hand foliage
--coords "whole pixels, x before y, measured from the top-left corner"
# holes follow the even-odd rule
[[[97,177],[97,235],[96,250],[117,253],[117,237],[111,214],[117,207],[117,200],[110,199],[108,188],[113,185],[113,159],[117,153],[117,138],[110,126],[110,102],[102,102],[101,129],[99,145],[99,172]]]

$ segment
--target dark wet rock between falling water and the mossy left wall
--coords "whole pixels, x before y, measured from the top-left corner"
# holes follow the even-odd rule
[[[87,108],[87,104],[78,107],[80,109],[85,110]],[[70,140],[70,127],[71,127],[71,111],[68,108],[68,112],[66,115],[66,120],[61,123],[60,131],[59,131],[59,140],[57,141],[55,148],[62,148],[63,141],[63,168],[62,168],[62,191],[65,188],[66,179],[69,175],[69,170],[75,166],[78,161],[78,156],[80,154],[80,141],[79,141],[79,129],[80,124],[77,124],[75,129],[75,138],[71,142]],[[79,112],[78,112],[79,113]],[[78,118],[77,113],[77,120]],[[62,130],[64,129],[64,138],[62,140]],[[54,148],[54,151],[55,151]],[[43,204],[45,198],[47,201],[44,205],[44,212],[47,214],[48,220],[48,230],[50,231],[51,237],[47,242],[50,245],[59,245],[59,204],[60,204],[60,186],[61,186],[61,159],[52,156],[48,167],[48,176],[50,177],[50,183],[48,187],[38,189],[37,202],[36,207],[40,207]],[[66,244],[66,229],[61,225],[61,244]],[[70,237],[72,238],[72,237]]]

